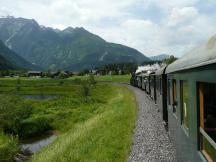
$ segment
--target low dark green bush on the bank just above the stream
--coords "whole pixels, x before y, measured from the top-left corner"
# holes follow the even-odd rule
[[[51,122],[52,118],[48,116],[26,119],[21,123],[19,135],[21,138],[41,135],[52,129],[52,126],[50,125]]]

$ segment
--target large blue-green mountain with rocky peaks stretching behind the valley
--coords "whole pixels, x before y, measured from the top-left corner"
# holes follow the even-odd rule
[[[0,18],[0,40],[44,69],[79,71],[111,63],[150,61],[139,51],[106,42],[82,27],[57,30],[24,18]]]

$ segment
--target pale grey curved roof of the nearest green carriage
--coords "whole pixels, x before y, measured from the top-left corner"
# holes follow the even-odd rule
[[[166,68],[166,73],[192,69],[216,63],[216,35],[194,48]]]

